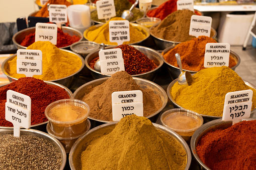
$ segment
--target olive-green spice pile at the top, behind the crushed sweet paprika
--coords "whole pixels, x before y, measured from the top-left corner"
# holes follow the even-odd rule
[[[121,17],[124,10],[129,10],[132,4],[128,0],[114,0],[115,8],[116,8],[116,16]],[[133,17],[129,20],[129,22],[136,21],[144,16],[144,13],[141,12],[139,9],[134,8],[132,10]],[[91,19],[97,22],[106,23],[106,20],[99,20],[97,10],[91,13]]]

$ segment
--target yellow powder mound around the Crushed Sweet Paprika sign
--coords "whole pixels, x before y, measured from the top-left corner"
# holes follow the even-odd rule
[[[110,21],[125,20],[120,17],[111,19]],[[137,43],[141,40],[144,40],[147,37],[148,33],[146,30],[140,27],[134,27],[130,24],[130,41],[124,42],[123,44],[132,44]],[[96,43],[104,43],[107,45],[117,45],[117,43],[112,43],[109,40],[109,22],[102,25],[101,27],[90,27],[88,30],[83,32],[84,38],[89,41]]]

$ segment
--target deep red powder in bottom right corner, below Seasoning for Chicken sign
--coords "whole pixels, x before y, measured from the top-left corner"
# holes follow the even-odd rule
[[[256,169],[256,120],[206,133],[198,142],[200,159],[212,170]]]

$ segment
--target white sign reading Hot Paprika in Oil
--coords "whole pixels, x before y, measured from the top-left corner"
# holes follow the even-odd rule
[[[17,73],[25,74],[26,77],[42,75],[43,54],[41,50],[19,49],[17,51]]]

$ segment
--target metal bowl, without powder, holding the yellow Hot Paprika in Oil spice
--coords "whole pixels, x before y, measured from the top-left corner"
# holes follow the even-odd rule
[[[50,82],[55,82],[55,83],[59,83],[67,88],[70,88],[74,85],[74,83],[76,82],[76,80],[78,79],[79,77],[79,73],[80,71],[83,69],[84,67],[84,59],[77,53],[74,53],[72,51],[69,51],[69,50],[64,50],[64,49],[60,49],[61,51],[64,51],[64,52],[67,52],[67,53],[70,53],[72,55],[76,55],[78,57],[78,60],[81,61],[81,67],[79,68],[79,70],[77,70],[75,73],[69,75],[69,76],[66,76],[66,77],[63,77],[63,78],[60,78],[60,79],[56,79],[56,80],[47,80],[47,81],[50,81]],[[10,70],[10,65],[9,65],[9,62],[12,61],[15,57],[17,57],[17,54],[14,54],[12,56],[10,56],[9,58],[7,58],[3,64],[2,64],[2,71],[3,73],[7,76],[8,80],[10,82],[13,82],[13,81],[16,81],[18,80],[18,78],[15,78],[15,77],[12,77],[8,72],[7,70]],[[72,57],[72,56],[71,56]],[[43,65],[44,67],[44,65]],[[48,67],[48,66],[47,66]],[[72,66],[70,66],[72,67]],[[57,68],[55,68],[57,69]],[[65,69],[65,68],[59,68],[60,70],[60,74],[61,74],[61,70],[62,69]]]

